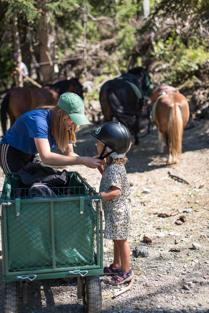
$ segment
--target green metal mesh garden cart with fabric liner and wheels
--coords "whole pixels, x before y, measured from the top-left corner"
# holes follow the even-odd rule
[[[17,174],[5,177],[0,197],[3,313],[18,313],[20,297],[27,303],[28,281],[74,277],[84,311],[101,311],[102,199],[78,172],[69,177],[70,193],[44,197],[17,192]]]

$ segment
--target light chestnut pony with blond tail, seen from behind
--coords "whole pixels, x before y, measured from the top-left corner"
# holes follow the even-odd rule
[[[162,85],[155,90],[151,104],[153,119],[158,129],[158,153],[163,153],[164,137],[167,164],[177,163],[181,156],[183,132],[189,121],[188,101],[174,87]]]

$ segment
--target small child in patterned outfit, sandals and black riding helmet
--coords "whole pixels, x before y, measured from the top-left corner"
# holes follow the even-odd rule
[[[128,198],[131,192],[125,171],[127,158],[125,153],[131,146],[131,135],[128,129],[119,122],[107,122],[90,135],[98,140],[99,159],[105,159],[99,192],[103,199],[102,206],[105,216],[104,238],[114,242],[113,264],[104,268],[104,275],[114,275],[108,282],[121,285],[132,280],[130,269],[130,248],[128,235],[130,231],[130,208]]]

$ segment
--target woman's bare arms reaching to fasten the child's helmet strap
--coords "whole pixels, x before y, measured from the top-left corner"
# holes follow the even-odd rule
[[[73,151],[73,144],[69,144],[65,155],[51,152],[48,139],[34,138],[35,144],[44,164],[52,166],[85,165],[90,168],[99,167],[103,160],[90,156],[78,156]]]

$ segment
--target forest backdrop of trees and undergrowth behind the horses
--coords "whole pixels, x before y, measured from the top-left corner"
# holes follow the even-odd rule
[[[2,0],[0,36],[1,94],[19,52],[42,86],[77,77],[98,100],[105,80],[143,66],[152,84],[185,91],[193,111],[208,106],[208,0]]]

